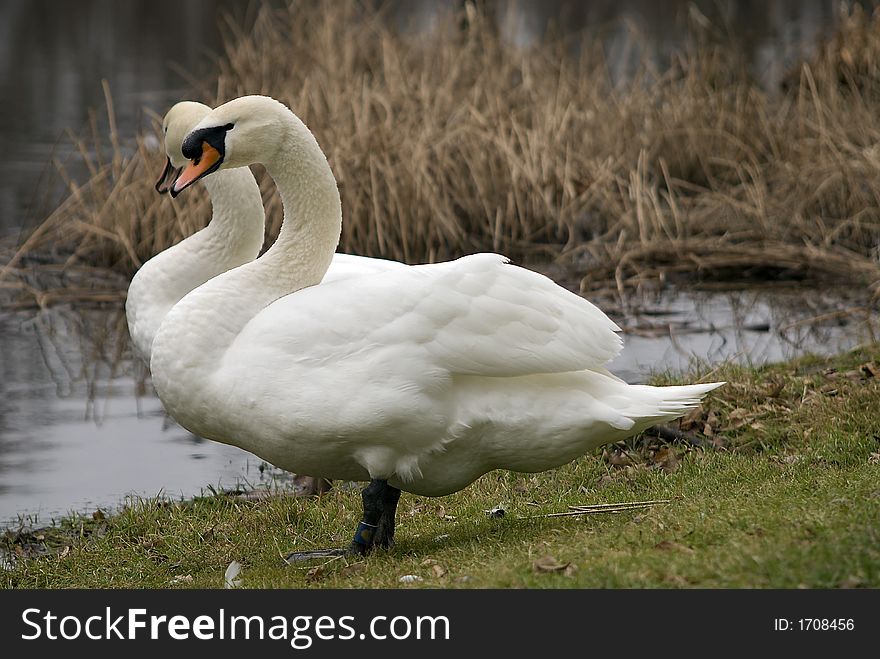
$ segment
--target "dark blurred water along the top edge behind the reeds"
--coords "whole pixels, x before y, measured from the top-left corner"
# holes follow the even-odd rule
[[[395,0],[390,20],[429,29],[457,0]],[[753,74],[772,87],[827,33],[838,3],[829,0],[501,0],[494,20],[512,44],[528,46],[549,26],[600,35],[612,75],[625,77],[643,56],[662,60],[684,43],[688,25],[708,21],[741,44]],[[871,2],[862,4],[873,5]],[[51,185],[55,157],[72,158],[65,130],[87,134],[89,111],[102,111],[106,80],[119,134],[130,142],[193,91],[181,71],[206,80],[221,51],[218,12],[239,21],[256,3],[234,0],[5,0],[0,3],[0,236],[33,224],[61,194]],[[635,27],[639,36],[633,40]],[[175,68],[176,65],[176,68]],[[98,112],[98,117],[103,117]],[[106,125],[99,126],[106,134]],[[56,181],[57,183],[57,181]]]

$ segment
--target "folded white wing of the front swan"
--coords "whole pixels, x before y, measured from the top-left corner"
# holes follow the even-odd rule
[[[283,344],[301,362],[372,351],[407,368],[513,377],[601,367],[621,349],[618,331],[547,277],[475,254],[297,291],[258,314],[238,341]]]

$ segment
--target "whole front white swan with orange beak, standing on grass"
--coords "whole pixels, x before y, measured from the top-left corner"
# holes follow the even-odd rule
[[[720,384],[626,384],[604,367],[617,326],[497,254],[316,286],[340,235],[339,194],[311,132],[273,99],[221,105],[183,153],[192,162],[172,194],[260,162],[285,218],[260,259],[167,315],[156,390],[204,437],[297,473],[371,480],[354,541],[333,553],[390,545],[401,489],[441,496],[492,469],[551,469],[682,415]]]

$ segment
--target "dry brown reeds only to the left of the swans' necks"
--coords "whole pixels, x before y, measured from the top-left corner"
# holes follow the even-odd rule
[[[19,293],[13,307],[123,300],[128,278],[144,261],[210,218],[203,190],[176,204],[156,194],[164,157],[147,147],[145,136],[122,145],[106,83],[104,91],[109,135],[99,133],[92,115],[88,135],[70,136],[85,182],[56,161],[67,196],[20,245],[5,250],[0,289]]]

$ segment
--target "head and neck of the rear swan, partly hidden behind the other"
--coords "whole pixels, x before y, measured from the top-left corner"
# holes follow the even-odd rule
[[[156,182],[167,192],[171,178],[187,164],[183,138],[211,108],[181,101],[165,115],[165,169]],[[135,351],[149,363],[153,338],[171,308],[197,286],[230,268],[257,258],[263,245],[265,217],[260,189],[246,167],[205,179],[213,217],[204,229],[144,263],[128,287],[125,314]]]

